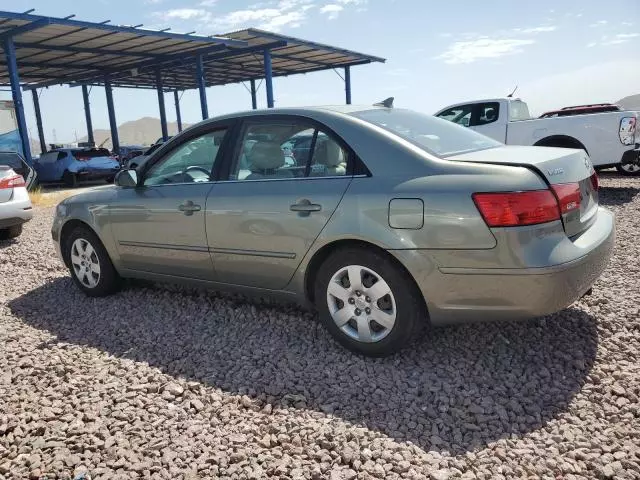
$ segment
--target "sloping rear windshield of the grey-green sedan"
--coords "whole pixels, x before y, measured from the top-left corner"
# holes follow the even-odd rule
[[[412,110],[375,109],[354,112],[351,115],[382,127],[438,157],[501,145],[468,128]]]

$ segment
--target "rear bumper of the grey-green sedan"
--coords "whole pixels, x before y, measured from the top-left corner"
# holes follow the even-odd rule
[[[587,234],[583,243],[588,249],[579,249],[579,257],[536,268],[438,268],[432,257],[427,258],[428,251],[392,253],[417,279],[434,325],[528,319],[571,305],[606,268],[615,240],[613,214],[601,208]],[[415,252],[420,252],[422,260]],[[416,271],[419,265],[427,273]]]

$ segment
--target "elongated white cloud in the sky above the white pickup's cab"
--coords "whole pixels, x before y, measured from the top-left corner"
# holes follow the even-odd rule
[[[466,42],[455,42],[442,54],[435,57],[445,63],[471,63],[483,58],[498,58],[522,53],[521,47],[535,43],[530,39],[481,37]]]

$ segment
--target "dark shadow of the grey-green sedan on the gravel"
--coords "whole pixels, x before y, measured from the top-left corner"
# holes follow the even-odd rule
[[[177,287],[92,299],[65,277],[9,307],[59,342],[455,454],[522,436],[566,411],[598,347],[595,319],[577,308],[434,329],[400,354],[370,359],[337,346],[310,312]]]

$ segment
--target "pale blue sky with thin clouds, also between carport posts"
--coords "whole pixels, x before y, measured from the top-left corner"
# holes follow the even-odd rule
[[[31,8],[202,35],[258,27],[384,57],[351,69],[353,103],[393,96],[398,107],[430,114],[516,86],[533,114],[640,93],[639,0],[0,0],[0,10]],[[334,71],[275,78],[274,96],[276,107],[344,103],[344,83]],[[242,84],[208,88],[207,97],[210,116],[251,107]],[[116,89],[114,100],[119,124],[159,117],[155,91]],[[47,143],[86,134],[79,88],[50,87],[40,104]],[[35,138],[30,95],[25,106]],[[102,88],[92,89],[91,106],[94,128],[108,128]],[[258,106],[266,106],[264,87]],[[184,92],[181,108],[184,122],[201,119],[197,91]]]

